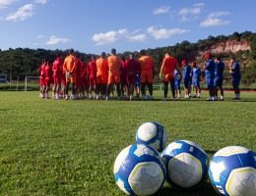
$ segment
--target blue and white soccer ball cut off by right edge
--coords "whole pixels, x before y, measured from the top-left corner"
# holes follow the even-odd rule
[[[256,195],[256,155],[244,147],[225,147],[212,158],[209,177],[221,195]]]

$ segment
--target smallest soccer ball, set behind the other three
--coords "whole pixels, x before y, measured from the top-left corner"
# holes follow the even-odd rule
[[[166,141],[167,134],[165,128],[159,123],[143,123],[137,129],[136,142],[138,144],[150,145],[158,151],[162,151]]]

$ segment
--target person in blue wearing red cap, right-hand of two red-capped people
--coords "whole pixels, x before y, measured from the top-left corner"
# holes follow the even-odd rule
[[[205,77],[210,97],[208,101],[215,101],[215,61],[210,53],[205,54]]]

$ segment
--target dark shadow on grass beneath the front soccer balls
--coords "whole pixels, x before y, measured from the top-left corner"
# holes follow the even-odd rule
[[[218,196],[210,182],[206,182],[203,186],[196,190],[179,190],[170,186],[164,186],[156,196]]]

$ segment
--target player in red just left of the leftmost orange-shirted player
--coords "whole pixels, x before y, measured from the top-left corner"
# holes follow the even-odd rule
[[[55,61],[52,64],[53,73],[53,99],[59,99],[61,76],[62,76],[62,58],[61,55],[57,55]]]

